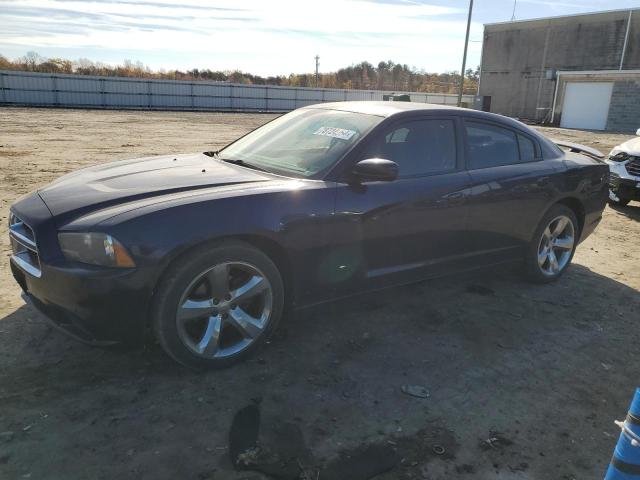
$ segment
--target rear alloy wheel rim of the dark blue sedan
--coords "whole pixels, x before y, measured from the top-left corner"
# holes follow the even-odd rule
[[[538,266],[543,274],[558,275],[569,263],[575,245],[575,228],[567,216],[549,222],[538,244]]]

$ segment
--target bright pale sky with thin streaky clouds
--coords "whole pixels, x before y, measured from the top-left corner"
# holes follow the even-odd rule
[[[468,0],[0,0],[0,54],[125,59],[153,69],[308,73],[368,61],[459,70]],[[640,0],[516,0],[524,20],[640,7]],[[474,2],[468,67],[482,26],[511,20],[514,0]]]

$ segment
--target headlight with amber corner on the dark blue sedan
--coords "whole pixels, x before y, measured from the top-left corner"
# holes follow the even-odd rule
[[[135,267],[129,252],[106,233],[59,233],[62,253],[69,260],[105,267]]]

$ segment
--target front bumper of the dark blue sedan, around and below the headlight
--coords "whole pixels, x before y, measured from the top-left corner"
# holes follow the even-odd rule
[[[32,251],[31,257],[20,256],[14,240],[22,237],[11,228],[11,271],[34,307],[57,327],[87,343],[140,344],[144,340],[153,285],[148,269],[68,261],[58,245],[54,218],[37,194],[18,201],[12,217],[23,222],[25,227],[18,233],[29,237],[21,241]]]

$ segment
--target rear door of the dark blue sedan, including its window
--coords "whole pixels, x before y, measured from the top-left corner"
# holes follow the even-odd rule
[[[501,124],[465,119],[469,238],[479,263],[516,258],[554,197],[558,162],[538,141]]]

